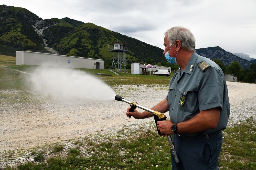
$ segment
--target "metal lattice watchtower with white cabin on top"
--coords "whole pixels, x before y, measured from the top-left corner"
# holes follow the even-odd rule
[[[111,43],[113,44],[113,46],[109,46],[109,51],[113,52],[112,70],[125,73],[125,66],[126,66],[125,52],[127,51],[127,47],[125,45],[127,43],[123,43],[120,41],[111,42]]]

